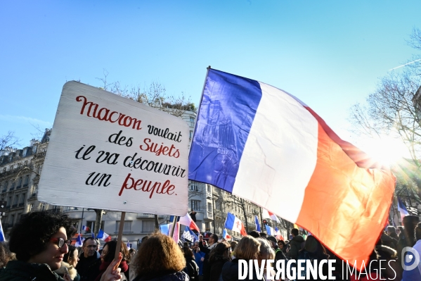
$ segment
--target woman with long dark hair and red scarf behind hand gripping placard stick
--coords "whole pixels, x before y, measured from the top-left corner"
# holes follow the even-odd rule
[[[119,268],[121,268],[121,273],[125,273],[127,270],[129,270],[129,265],[127,264],[127,258],[129,257],[129,251],[127,250],[126,244],[124,242],[121,242],[120,245],[120,253],[122,253],[122,262],[119,264]],[[105,270],[107,270],[108,266],[110,266],[110,263],[112,263],[112,260],[115,256],[115,250],[117,249],[117,240],[111,240],[105,243],[103,247],[103,251],[101,253],[101,266],[99,267],[99,275],[95,278],[95,281],[100,281],[103,273],[105,273]]]

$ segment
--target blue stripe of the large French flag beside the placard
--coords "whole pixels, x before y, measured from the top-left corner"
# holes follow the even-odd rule
[[[233,191],[260,100],[259,82],[209,70],[190,149],[189,180]]]

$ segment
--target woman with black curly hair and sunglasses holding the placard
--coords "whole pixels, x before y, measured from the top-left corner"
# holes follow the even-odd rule
[[[61,266],[76,230],[66,215],[41,211],[22,215],[13,226],[9,249],[16,254],[17,261],[9,261],[0,270],[0,281],[71,281],[68,274],[64,279],[53,270]],[[117,261],[116,261],[117,263]],[[117,270],[108,269],[102,281],[121,278]]]

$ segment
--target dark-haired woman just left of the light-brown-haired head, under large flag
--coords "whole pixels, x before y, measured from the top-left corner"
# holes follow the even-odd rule
[[[204,275],[207,274],[209,276],[209,281],[218,281],[219,276],[222,272],[222,267],[227,261],[231,261],[230,258],[230,244],[228,242],[221,242],[216,244],[214,249],[209,254],[209,266],[207,270],[208,273],[203,273]]]

